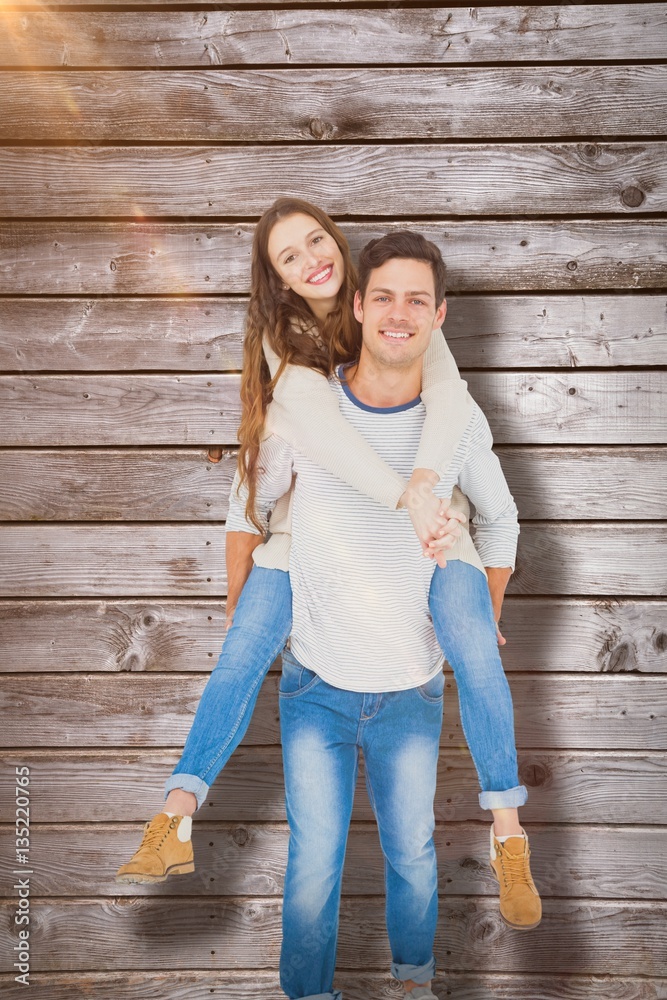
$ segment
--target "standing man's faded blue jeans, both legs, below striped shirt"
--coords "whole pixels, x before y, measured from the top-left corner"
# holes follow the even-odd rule
[[[280,730],[290,842],[280,985],[290,1000],[341,997],[333,989],[338,910],[360,750],[385,859],[391,973],[417,983],[433,977],[433,798],[444,685],[440,671],[408,691],[343,691],[283,653]]]

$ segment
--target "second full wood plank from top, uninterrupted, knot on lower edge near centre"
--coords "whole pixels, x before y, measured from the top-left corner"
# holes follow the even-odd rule
[[[0,139],[648,138],[666,99],[659,65],[16,71]]]

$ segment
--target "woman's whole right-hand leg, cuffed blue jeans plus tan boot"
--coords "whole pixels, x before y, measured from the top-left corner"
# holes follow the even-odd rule
[[[528,793],[519,782],[512,695],[484,574],[449,560],[433,574],[429,606],[456,678],[461,724],[482,789],[479,804],[493,813],[491,866],[500,883],[500,912],[510,926],[529,930],[540,922],[542,907],[517,811]]]

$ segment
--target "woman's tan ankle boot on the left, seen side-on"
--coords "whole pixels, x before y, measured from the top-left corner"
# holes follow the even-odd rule
[[[191,831],[190,816],[158,813],[146,823],[139,850],[120,866],[116,882],[164,882],[169,875],[193,872]]]

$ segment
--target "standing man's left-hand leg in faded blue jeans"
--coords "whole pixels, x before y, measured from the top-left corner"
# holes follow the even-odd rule
[[[283,655],[280,728],[290,842],[280,984],[290,1000],[340,1000],[333,989],[338,911],[362,697],[331,687]]]

